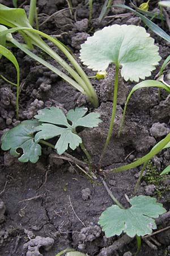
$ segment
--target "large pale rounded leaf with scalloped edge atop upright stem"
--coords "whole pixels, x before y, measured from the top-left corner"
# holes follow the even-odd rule
[[[158,49],[145,28],[115,24],[87,38],[80,59],[95,71],[104,71],[110,63],[121,65],[122,77],[138,82],[150,76],[158,65],[161,59]]]

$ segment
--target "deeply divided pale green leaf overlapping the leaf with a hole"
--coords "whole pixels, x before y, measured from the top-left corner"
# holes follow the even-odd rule
[[[87,109],[75,108],[75,110],[69,110],[65,116],[61,109],[55,107],[40,110],[35,118],[46,123],[36,128],[38,133],[35,135],[35,141],[60,136],[55,146],[59,155],[63,154],[68,147],[75,150],[82,143],[82,139],[75,132],[76,127],[96,127],[101,122],[98,113],[90,113],[83,117],[86,112]],[[67,119],[72,122],[72,125]],[[58,125],[64,127],[58,127]]]

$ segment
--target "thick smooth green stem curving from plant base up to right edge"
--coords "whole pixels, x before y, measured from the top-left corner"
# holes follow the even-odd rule
[[[150,152],[148,152],[148,154],[146,154],[145,156],[143,156],[142,158],[139,158],[138,160],[136,160],[133,163],[130,164],[126,164],[125,166],[120,166],[117,168],[114,168],[112,170],[105,170],[104,172],[109,174],[109,173],[116,173],[116,172],[122,172],[122,171],[126,171],[129,170],[131,168],[135,168],[137,166],[141,166],[141,164],[147,162],[148,160],[150,160],[154,155],[158,154],[161,150],[163,150],[163,148],[169,143],[170,141],[170,133],[164,138],[162,139],[162,141],[160,141],[159,143],[157,143]]]

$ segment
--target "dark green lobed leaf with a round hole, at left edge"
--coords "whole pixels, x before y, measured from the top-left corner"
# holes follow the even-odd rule
[[[1,138],[2,150],[10,150],[11,155],[19,156],[17,149],[22,148],[19,161],[36,163],[41,155],[41,146],[34,141],[33,133],[39,125],[37,120],[27,120],[8,130]]]

